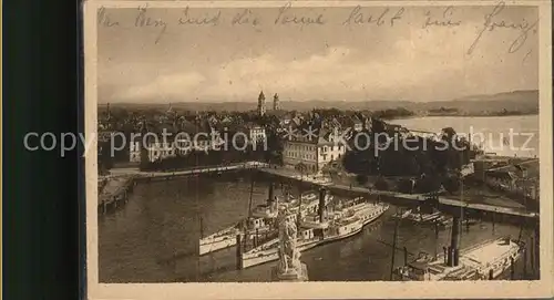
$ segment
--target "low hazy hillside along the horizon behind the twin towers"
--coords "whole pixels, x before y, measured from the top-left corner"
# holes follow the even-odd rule
[[[267,103],[268,110],[271,104]],[[129,108],[166,108],[168,104],[135,104],[114,103],[113,107]],[[172,103],[174,110],[189,111],[250,111],[256,108],[255,102],[181,102]],[[338,108],[352,111],[381,111],[388,108],[403,107],[406,110],[424,113],[430,110],[450,108],[465,114],[480,114],[483,112],[500,112],[503,110],[513,112],[537,112],[538,91],[514,91],[492,95],[472,95],[449,101],[411,102],[411,101],[281,101],[280,107],[287,111],[309,111],[318,108]]]

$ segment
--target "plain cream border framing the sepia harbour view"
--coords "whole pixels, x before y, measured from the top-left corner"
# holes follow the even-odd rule
[[[98,149],[85,157],[86,275],[89,299],[416,299],[416,298],[541,298],[553,294],[552,177],[552,9],[550,1],[505,1],[509,6],[540,7],[540,172],[541,280],[462,282],[302,282],[302,283],[99,283]],[[88,1],[84,15],[85,131],[96,134],[98,70],[96,9],[279,7],[285,1]],[[494,6],[497,1],[294,1],[293,7]]]

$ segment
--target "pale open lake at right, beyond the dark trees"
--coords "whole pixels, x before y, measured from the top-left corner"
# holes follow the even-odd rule
[[[472,135],[486,152],[505,156],[538,157],[538,115],[460,117],[429,116],[391,121],[410,130],[440,133],[452,127],[459,134]]]

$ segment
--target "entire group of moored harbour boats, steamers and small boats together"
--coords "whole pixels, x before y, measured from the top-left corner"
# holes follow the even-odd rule
[[[276,221],[279,206],[286,206],[289,211],[287,218],[297,224],[299,251],[353,236],[389,209],[386,203],[370,201],[363,197],[334,199],[324,189],[301,194],[298,198],[290,195],[271,197],[273,192],[269,194],[268,200],[250,209],[247,218],[213,235],[201,237],[199,255],[234,246],[242,248],[237,241],[247,240],[253,241],[254,247],[240,251],[237,259],[240,259],[242,268],[277,260],[279,239]],[[440,226],[453,224],[451,217],[443,216],[440,211],[422,213],[416,209],[393,217]],[[264,242],[258,242],[259,237],[266,237]],[[463,249],[455,259],[449,257],[447,250],[435,257],[422,252],[416,260],[396,268],[393,277],[396,280],[423,281],[496,279],[521,258],[523,250],[522,241],[502,237]]]

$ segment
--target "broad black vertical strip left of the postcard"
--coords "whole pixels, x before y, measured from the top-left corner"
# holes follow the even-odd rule
[[[62,157],[60,137],[76,132],[76,2],[2,4],[3,298],[75,299],[78,154]],[[57,146],[25,148],[31,132],[30,146],[44,133]]]

